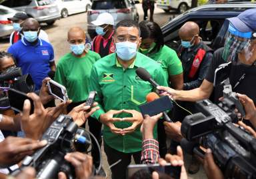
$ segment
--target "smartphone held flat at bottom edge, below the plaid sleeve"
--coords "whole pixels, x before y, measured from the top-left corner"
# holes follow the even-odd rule
[[[181,166],[171,166],[171,164],[165,166],[160,166],[159,164],[132,164],[127,167],[127,179],[132,178],[133,175],[152,174],[154,171],[165,173],[175,179],[181,176]]]

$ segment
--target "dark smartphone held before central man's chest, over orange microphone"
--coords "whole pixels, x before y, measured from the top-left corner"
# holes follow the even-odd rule
[[[171,110],[172,108],[173,103],[168,96],[162,96],[161,98],[157,98],[156,100],[141,104],[139,106],[143,116],[145,116],[145,114],[155,116],[156,114],[164,112],[165,110]]]

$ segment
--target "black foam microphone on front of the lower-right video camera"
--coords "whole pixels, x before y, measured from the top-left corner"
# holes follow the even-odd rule
[[[199,145],[195,142],[189,142],[187,139],[181,139],[181,148],[188,154],[196,154],[201,158],[205,157],[205,152],[199,148]]]

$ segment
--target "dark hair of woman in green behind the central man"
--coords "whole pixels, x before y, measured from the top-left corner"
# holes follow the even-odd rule
[[[150,38],[155,40],[156,45],[153,51],[155,49],[159,51],[163,45],[165,45],[162,30],[157,23],[152,21],[141,21],[141,23],[139,23],[139,28],[141,29],[142,39]]]

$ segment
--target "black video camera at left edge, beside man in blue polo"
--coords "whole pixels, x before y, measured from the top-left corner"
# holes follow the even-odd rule
[[[2,109],[9,108],[7,89],[12,88],[25,93],[35,90],[31,76],[29,74],[22,75],[19,67],[10,67],[0,75],[0,87],[3,91],[0,94],[0,108]]]

